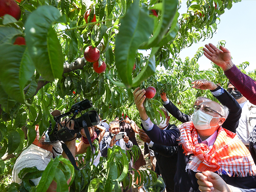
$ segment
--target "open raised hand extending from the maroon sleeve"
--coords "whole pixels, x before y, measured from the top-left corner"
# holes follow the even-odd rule
[[[206,48],[203,48],[203,54],[205,57],[210,59],[216,65],[220,66],[223,71],[227,71],[233,67],[234,64],[231,60],[231,54],[227,48],[220,46],[220,49],[218,49],[211,43],[209,43],[209,45],[205,45],[205,47]]]

